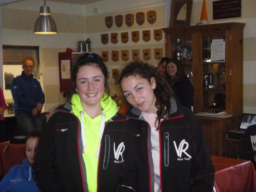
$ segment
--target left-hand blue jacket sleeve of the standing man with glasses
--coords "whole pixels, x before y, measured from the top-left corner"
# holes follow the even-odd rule
[[[12,80],[11,92],[13,99],[21,103],[22,106],[35,108],[37,106],[37,101],[28,99],[26,94],[23,92],[21,85],[17,81],[18,80],[16,78]]]

